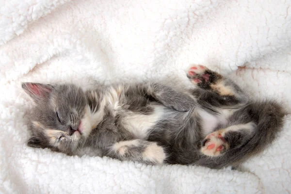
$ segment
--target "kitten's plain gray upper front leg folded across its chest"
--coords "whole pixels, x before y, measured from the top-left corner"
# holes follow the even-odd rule
[[[163,84],[144,84],[141,90],[143,90],[146,95],[161,102],[165,107],[180,112],[190,111],[197,104],[197,100],[190,93]]]

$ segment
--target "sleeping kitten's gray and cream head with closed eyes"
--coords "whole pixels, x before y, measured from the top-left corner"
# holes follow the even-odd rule
[[[30,114],[32,137],[28,146],[48,147],[73,154],[91,131],[90,109],[81,88],[75,85],[22,83],[35,102]]]

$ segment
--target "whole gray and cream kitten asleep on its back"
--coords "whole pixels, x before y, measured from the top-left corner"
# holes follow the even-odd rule
[[[97,86],[23,83],[35,101],[29,146],[75,155],[90,147],[104,156],[146,164],[237,165],[259,153],[283,125],[274,101],[252,101],[234,82],[202,65],[196,85]]]

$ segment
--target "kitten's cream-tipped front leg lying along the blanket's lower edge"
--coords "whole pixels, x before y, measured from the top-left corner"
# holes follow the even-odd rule
[[[134,161],[150,165],[162,164],[166,159],[162,146],[140,139],[117,142],[110,146],[105,153],[106,156],[121,161]]]

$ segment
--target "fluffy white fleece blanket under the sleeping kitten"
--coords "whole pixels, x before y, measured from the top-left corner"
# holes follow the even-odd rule
[[[204,64],[291,113],[291,0],[1,0],[0,193],[291,193],[291,116],[237,170],[146,166],[26,146],[21,81],[166,80]]]

